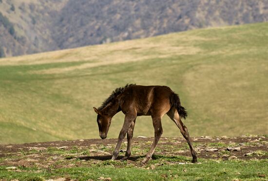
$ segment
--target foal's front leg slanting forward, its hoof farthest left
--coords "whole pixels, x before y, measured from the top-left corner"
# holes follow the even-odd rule
[[[119,149],[120,149],[121,144],[122,144],[122,141],[125,138],[127,131],[129,130],[130,126],[132,125],[132,122],[135,119],[136,119],[136,115],[134,115],[134,114],[127,114],[125,116],[125,121],[124,121],[123,127],[122,127],[122,129],[121,129],[121,131],[119,133],[118,142],[116,144],[112,160],[115,160],[117,158],[117,156],[119,154]]]

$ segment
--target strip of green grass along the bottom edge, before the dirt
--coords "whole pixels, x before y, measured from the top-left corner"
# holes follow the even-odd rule
[[[177,159],[177,158],[176,158]],[[19,167],[21,172],[7,171],[0,166],[0,178],[6,180],[45,180],[50,178],[69,178],[85,181],[88,179],[111,178],[113,181],[153,181],[153,180],[265,180],[268,173],[267,160],[261,161],[213,161],[202,160],[201,164],[161,164],[154,168],[126,167],[124,162],[104,161],[90,167],[59,169],[38,169]],[[146,169],[148,168],[148,169]],[[153,168],[153,169],[152,169]]]

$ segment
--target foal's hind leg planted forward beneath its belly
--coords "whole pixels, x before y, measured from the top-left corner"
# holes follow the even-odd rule
[[[154,128],[154,140],[153,140],[153,144],[149,150],[149,152],[146,154],[145,159],[143,159],[143,161],[141,161],[143,164],[147,163],[154,152],[154,149],[163,133],[163,128],[162,128],[162,124],[161,124],[161,117],[152,117],[153,118],[153,128]]]

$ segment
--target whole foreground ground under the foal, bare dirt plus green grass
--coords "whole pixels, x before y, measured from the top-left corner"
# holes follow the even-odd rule
[[[111,161],[116,139],[0,145],[4,181],[241,181],[267,180],[268,138],[195,138],[198,163],[191,163],[184,138],[162,138],[148,164],[140,163],[153,139],[134,139],[127,161]],[[241,148],[226,151],[227,147]],[[208,152],[208,148],[218,151]],[[122,144],[126,150],[126,142]],[[119,159],[125,154],[120,153]],[[251,153],[249,156],[245,154]]]

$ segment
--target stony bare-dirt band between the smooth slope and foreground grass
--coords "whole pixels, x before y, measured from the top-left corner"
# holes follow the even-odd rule
[[[25,144],[0,145],[0,165],[38,166],[40,168],[72,167],[90,164],[108,164],[112,158],[117,139],[53,141]],[[139,160],[146,155],[153,138],[134,138],[132,156],[127,161],[140,164]],[[244,137],[196,137],[192,138],[198,158],[214,160],[249,160],[268,159],[268,138],[263,136]],[[118,159],[126,151],[127,141],[122,143]],[[190,162],[191,153],[184,138],[161,138],[153,155],[153,159],[179,158],[185,156]],[[174,160],[174,159],[173,159]],[[103,162],[106,161],[106,162]],[[116,163],[123,164],[123,163]]]

